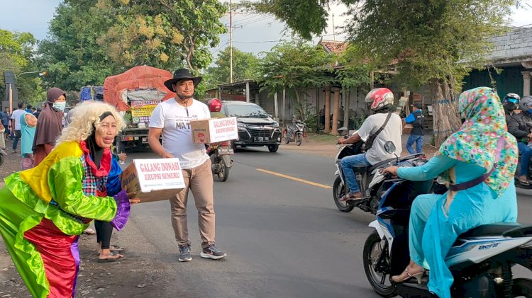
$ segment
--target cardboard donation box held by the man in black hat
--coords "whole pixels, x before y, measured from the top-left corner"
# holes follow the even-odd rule
[[[211,118],[190,122],[192,141],[196,144],[210,144],[238,139],[236,117]]]

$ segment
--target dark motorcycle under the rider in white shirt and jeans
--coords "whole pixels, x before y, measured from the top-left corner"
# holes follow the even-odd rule
[[[333,200],[336,204],[336,207],[338,207],[338,210],[341,212],[351,212],[355,207],[358,207],[362,211],[375,214],[379,208],[379,200],[380,196],[382,195],[382,180],[379,180],[380,176],[377,170],[382,168],[382,166],[389,166],[393,161],[395,161],[395,159],[387,159],[367,168],[356,168],[355,177],[357,178],[357,183],[360,186],[362,200],[356,200],[355,202],[340,201],[340,198],[349,192],[349,187],[345,182],[345,175],[343,173],[343,168],[340,164],[340,161],[345,156],[361,154],[364,152],[364,142],[359,141],[355,144],[347,144],[340,147],[338,154],[336,154],[335,175],[337,177],[333,183]],[[406,161],[410,159],[420,159],[426,161],[425,155],[423,153],[404,156],[399,158],[399,161]]]

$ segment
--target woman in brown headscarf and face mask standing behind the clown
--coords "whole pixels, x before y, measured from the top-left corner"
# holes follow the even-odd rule
[[[65,91],[55,87],[48,90],[33,139],[34,166],[40,164],[40,161],[43,161],[50,154],[57,137],[61,134],[63,110],[65,110],[66,105],[67,95]]]

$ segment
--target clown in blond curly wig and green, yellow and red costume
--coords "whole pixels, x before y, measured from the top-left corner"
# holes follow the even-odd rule
[[[106,103],[82,103],[35,168],[5,178],[0,234],[33,297],[73,297],[79,234],[92,219],[126,224],[134,193],[121,190],[111,144],[124,126]]]

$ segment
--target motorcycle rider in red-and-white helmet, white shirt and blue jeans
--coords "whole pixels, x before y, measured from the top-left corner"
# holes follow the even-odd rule
[[[367,148],[363,154],[345,156],[341,161],[342,169],[345,174],[345,180],[349,187],[349,193],[340,198],[341,201],[348,202],[351,200],[361,200],[362,193],[355,178],[355,168],[372,166],[386,159],[394,158],[394,154],[389,154],[384,150],[384,143],[392,141],[395,144],[395,154],[401,155],[401,118],[396,113],[392,113],[394,105],[394,93],[388,88],[375,88],[365,98],[367,103],[371,103],[370,109],[373,115],[370,115],[360,129],[347,139],[340,137],[339,144],[354,144],[362,140],[367,142],[368,138],[382,127],[382,131],[377,134],[371,147]],[[389,116],[388,122],[385,124]]]

